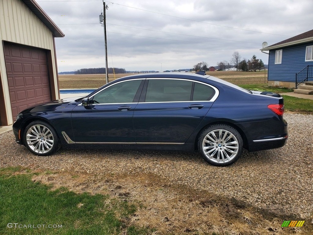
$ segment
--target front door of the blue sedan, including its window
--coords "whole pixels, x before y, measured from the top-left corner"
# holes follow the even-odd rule
[[[89,104],[74,107],[71,123],[76,143],[135,144],[133,113],[144,79],[121,81],[89,97]]]

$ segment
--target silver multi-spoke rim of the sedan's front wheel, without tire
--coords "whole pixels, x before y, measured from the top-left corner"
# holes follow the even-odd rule
[[[28,128],[26,142],[30,149],[39,154],[48,153],[54,143],[51,130],[44,125],[36,124]]]

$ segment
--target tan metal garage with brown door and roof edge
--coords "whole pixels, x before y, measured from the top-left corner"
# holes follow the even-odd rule
[[[63,32],[33,0],[0,0],[0,126],[59,99],[55,37]]]

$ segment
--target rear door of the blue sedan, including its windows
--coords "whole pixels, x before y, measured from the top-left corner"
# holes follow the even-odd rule
[[[147,78],[134,111],[137,144],[184,144],[203,120],[218,89],[187,79]]]

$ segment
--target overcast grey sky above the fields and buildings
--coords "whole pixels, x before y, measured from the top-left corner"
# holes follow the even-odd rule
[[[105,66],[100,1],[38,0],[65,34],[55,38],[58,70]],[[106,1],[108,66],[126,70],[192,68],[243,59],[312,29],[312,0],[113,0]],[[113,61],[113,63],[112,63]]]

